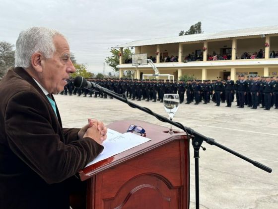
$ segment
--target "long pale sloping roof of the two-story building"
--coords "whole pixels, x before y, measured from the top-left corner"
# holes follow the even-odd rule
[[[148,46],[157,44],[181,43],[191,41],[205,41],[220,38],[234,38],[241,36],[263,35],[278,33],[278,26],[255,27],[238,30],[226,30],[214,33],[200,33],[192,35],[182,35],[166,38],[155,38],[147,40],[132,41],[125,44],[120,44],[117,47],[132,47],[132,46]]]

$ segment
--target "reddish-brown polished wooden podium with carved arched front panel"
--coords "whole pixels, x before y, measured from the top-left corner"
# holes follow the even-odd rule
[[[124,133],[143,127],[151,141],[93,164],[79,172],[87,180],[87,209],[188,209],[189,139],[169,128],[140,120],[108,125]]]

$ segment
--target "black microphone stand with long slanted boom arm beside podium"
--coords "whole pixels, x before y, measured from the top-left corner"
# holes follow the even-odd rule
[[[195,158],[195,195],[196,195],[196,209],[200,209],[200,199],[199,199],[199,158],[200,158],[200,154],[199,154],[199,150],[200,150],[200,147],[202,147],[202,143],[203,141],[206,141],[208,144],[210,145],[215,145],[249,163],[252,163],[254,166],[268,172],[268,173],[271,173],[272,172],[272,169],[263,165],[262,163],[259,163],[257,161],[254,161],[250,158],[247,158],[245,157],[244,155],[242,154],[239,154],[235,151],[233,151],[232,149],[229,149],[228,147],[225,147],[219,143],[217,143],[213,138],[209,138],[207,136],[204,136],[202,135],[201,133],[198,133],[197,131],[193,130],[192,128],[189,128],[189,127],[185,127],[183,126],[181,123],[179,122],[175,122],[173,120],[169,120],[167,117],[164,117],[164,116],[161,116],[153,111],[151,111],[149,108],[147,107],[142,107],[138,104],[134,104],[132,102],[129,102],[128,99],[127,99],[127,93],[125,93],[125,98],[122,98],[120,95],[114,93],[113,91],[110,91],[106,88],[103,88],[101,86],[99,86],[98,84],[96,83],[93,83],[93,82],[89,82],[91,85],[92,85],[92,88],[95,88],[97,89],[98,91],[100,92],[104,92],[105,94],[117,99],[117,100],[120,100],[126,104],[128,104],[129,106],[133,107],[133,108],[138,108],[139,110],[141,111],[144,111],[148,114],[151,114],[153,116],[155,116],[158,120],[162,121],[162,122],[168,122],[182,130],[184,130],[186,133],[187,133],[187,136],[188,134],[191,134],[193,135],[194,137],[192,138],[192,146],[194,148],[194,158]],[[202,147],[203,148],[203,147]],[[206,148],[204,147],[203,150],[206,150]]]

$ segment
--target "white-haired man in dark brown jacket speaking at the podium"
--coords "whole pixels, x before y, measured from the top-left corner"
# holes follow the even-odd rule
[[[52,94],[75,68],[60,32],[32,27],[16,41],[15,69],[0,82],[0,209],[69,209],[74,176],[102,152],[107,128],[63,128]]]

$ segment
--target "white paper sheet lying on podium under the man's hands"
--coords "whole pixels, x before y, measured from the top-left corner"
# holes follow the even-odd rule
[[[102,144],[104,146],[102,153],[100,153],[93,161],[89,162],[85,167],[136,147],[147,141],[150,141],[150,139],[135,133],[119,133],[108,128],[107,139]]]

